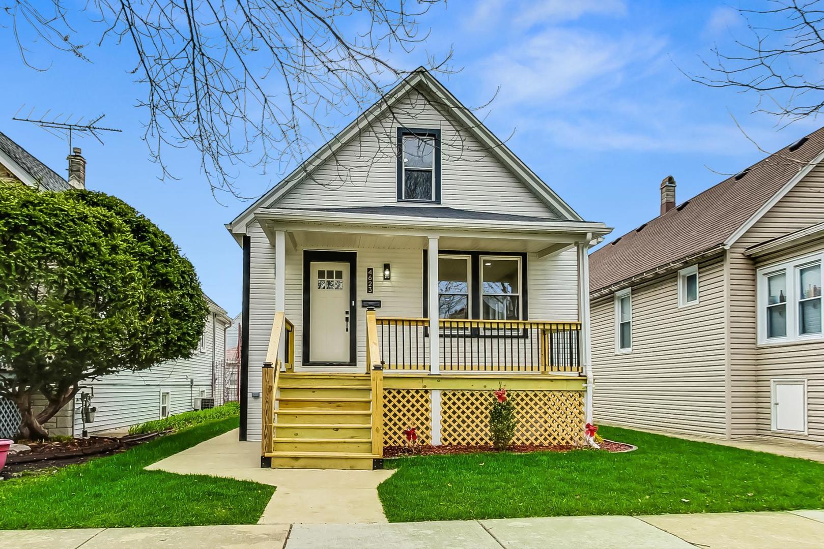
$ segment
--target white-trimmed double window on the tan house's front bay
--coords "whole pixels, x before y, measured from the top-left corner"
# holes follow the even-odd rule
[[[821,339],[822,256],[758,269],[758,342]]]

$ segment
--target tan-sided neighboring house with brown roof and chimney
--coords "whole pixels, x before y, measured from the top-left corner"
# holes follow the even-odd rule
[[[590,256],[597,421],[824,442],[824,128]]]

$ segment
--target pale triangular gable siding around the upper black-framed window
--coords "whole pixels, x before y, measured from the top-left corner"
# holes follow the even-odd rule
[[[438,112],[417,91],[390,115],[281,198],[279,207],[358,207],[397,204],[396,132],[399,125],[441,130],[442,205],[475,211],[556,217],[488,151]],[[494,201],[490,201],[494,197]],[[415,204],[418,206],[419,204]]]

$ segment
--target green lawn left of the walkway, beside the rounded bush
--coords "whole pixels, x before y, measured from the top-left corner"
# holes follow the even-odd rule
[[[143,470],[237,425],[237,417],[210,421],[54,474],[2,481],[0,528],[256,523],[274,486]]]

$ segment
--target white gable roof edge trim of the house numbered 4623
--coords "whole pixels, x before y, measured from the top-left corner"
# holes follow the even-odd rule
[[[237,228],[243,230],[246,222],[255,210],[260,206],[272,206],[279,198],[282,198],[290,190],[295,188],[297,184],[306,179],[307,174],[322,165],[325,161],[330,159],[349,143],[354,137],[367,128],[371,123],[379,119],[383,114],[386,114],[397,101],[401,100],[407,93],[412,90],[424,92],[424,95],[429,94],[437,97],[438,102],[442,105],[447,105],[451,110],[450,114],[458,119],[463,124],[466,131],[473,134],[480,142],[485,143],[489,147],[489,154],[495,156],[505,167],[510,170],[513,175],[517,177],[523,184],[530,188],[532,193],[537,198],[544,202],[547,207],[550,207],[555,212],[559,212],[561,218],[583,221],[583,218],[574,211],[564,200],[562,200],[553,191],[549,185],[545,184],[521,159],[519,159],[513,151],[489,131],[489,128],[481,123],[470,109],[467,109],[461,102],[452,95],[435,77],[433,77],[424,67],[419,67],[410,76],[400,81],[397,86],[383,95],[381,99],[369,107],[363,114],[360,114],[357,119],[341,130],[335,137],[325,143],[323,147],[315,151],[306,161],[299,165],[291,174],[288,174],[279,184],[269,189],[262,197],[258,198],[249,207],[246,208],[240,215],[236,216],[228,228],[232,230]]]

